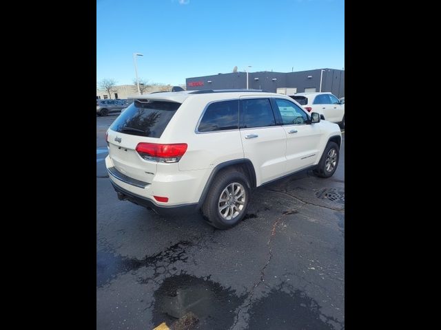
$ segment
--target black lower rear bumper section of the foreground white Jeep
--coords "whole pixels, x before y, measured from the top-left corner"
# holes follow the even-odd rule
[[[145,208],[154,210],[154,212],[161,215],[192,214],[194,212],[197,212],[198,210],[198,203],[176,206],[158,206],[151,199],[147,199],[143,196],[136,195],[133,192],[127,191],[124,188],[121,188],[120,186],[114,184],[112,180],[110,182],[112,183],[114,190],[118,194],[118,199],[120,199],[121,201],[131,201],[136,205],[144,206]]]

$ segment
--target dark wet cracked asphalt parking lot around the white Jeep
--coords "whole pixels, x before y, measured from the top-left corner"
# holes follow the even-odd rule
[[[257,188],[245,220],[163,218],[119,201],[103,159],[116,115],[96,118],[96,329],[344,329],[345,134],[330,179]]]

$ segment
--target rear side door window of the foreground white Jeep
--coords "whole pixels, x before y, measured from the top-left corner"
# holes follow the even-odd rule
[[[242,112],[240,118],[243,128],[275,126],[276,120],[267,98],[241,100]]]

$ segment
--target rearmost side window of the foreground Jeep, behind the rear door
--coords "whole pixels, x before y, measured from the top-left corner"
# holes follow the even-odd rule
[[[225,131],[237,129],[239,123],[239,101],[230,100],[209,104],[201,123],[199,132]]]

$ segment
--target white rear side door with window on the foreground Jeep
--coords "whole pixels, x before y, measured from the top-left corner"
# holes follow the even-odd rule
[[[287,136],[276,124],[269,98],[240,98],[239,125],[245,158],[252,161],[256,171],[256,184],[283,175]]]

